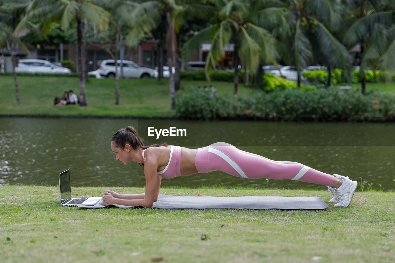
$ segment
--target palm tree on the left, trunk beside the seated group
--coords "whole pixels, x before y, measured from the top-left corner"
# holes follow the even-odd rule
[[[83,65],[83,45],[82,45],[82,21],[87,19],[90,25],[98,26],[99,30],[104,30],[108,24],[109,13],[94,4],[91,0],[33,0],[27,9],[27,13],[18,26],[18,30],[24,28],[34,19],[40,19],[40,27],[44,32],[51,29],[53,22],[58,22],[66,30],[71,21],[77,23],[77,67],[79,77],[79,101],[80,106],[87,106],[85,98],[85,76]]]

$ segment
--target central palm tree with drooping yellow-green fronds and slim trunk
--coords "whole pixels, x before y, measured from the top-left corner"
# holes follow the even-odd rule
[[[276,8],[259,9],[260,1],[213,0],[212,3],[217,10],[216,23],[201,30],[185,43],[184,51],[186,57],[189,57],[203,41],[211,39],[205,67],[206,78],[209,79],[209,72],[224,55],[225,45],[233,43],[233,93],[237,94],[240,58],[246,58],[246,64],[252,72],[256,71],[261,59],[264,62],[276,59],[275,39],[258,24],[263,16],[275,23],[281,23],[283,11]]]

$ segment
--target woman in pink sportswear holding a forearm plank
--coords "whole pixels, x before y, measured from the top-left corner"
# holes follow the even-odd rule
[[[291,179],[328,187],[337,202],[335,207],[348,207],[357,182],[341,175],[329,175],[296,162],[280,162],[237,149],[228,143],[214,143],[207,147],[189,149],[179,146],[144,146],[132,126],[120,129],[111,138],[111,149],[116,160],[128,164],[143,163],[146,180],[145,193],[127,195],[106,190],[103,204],[118,204],[151,208],[158,199],[163,178],[224,171],[244,178]]]

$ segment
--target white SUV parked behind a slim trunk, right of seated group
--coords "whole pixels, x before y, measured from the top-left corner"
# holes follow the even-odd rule
[[[121,60],[118,60],[118,75],[121,76]],[[126,78],[149,78],[154,76],[154,70],[151,68],[143,68],[129,60],[122,60],[123,77]],[[103,77],[115,77],[115,60],[103,60],[99,67],[99,74]]]

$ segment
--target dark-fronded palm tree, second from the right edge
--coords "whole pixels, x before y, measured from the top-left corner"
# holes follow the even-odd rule
[[[301,71],[314,59],[325,64],[329,72],[335,67],[350,70],[352,56],[332,33],[339,28],[338,0],[288,0],[282,6],[288,9],[287,28],[278,38],[286,47],[282,58],[297,70],[298,88]]]

